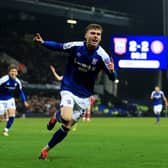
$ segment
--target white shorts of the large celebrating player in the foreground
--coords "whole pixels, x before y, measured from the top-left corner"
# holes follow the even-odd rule
[[[61,91],[61,104],[63,107],[72,107],[72,119],[78,121],[89,106],[90,97],[80,98],[70,91]]]

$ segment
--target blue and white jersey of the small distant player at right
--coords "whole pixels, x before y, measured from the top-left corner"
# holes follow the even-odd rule
[[[153,91],[151,97],[153,97],[153,105],[163,104],[163,91]]]

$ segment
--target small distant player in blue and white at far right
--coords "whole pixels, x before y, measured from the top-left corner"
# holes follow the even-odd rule
[[[153,112],[156,115],[156,123],[160,122],[160,113],[162,112],[163,109],[163,100],[165,103],[165,106],[168,106],[167,99],[164,95],[164,92],[160,90],[159,86],[155,86],[155,90],[152,91],[151,97],[153,101]]]

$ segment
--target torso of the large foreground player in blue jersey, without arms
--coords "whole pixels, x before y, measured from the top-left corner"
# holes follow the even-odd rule
[[[97,50],[89,52],[85,46],[74,47],[64,73],[62,89],[68,89],[77,96],[89,97],[102,66]]]

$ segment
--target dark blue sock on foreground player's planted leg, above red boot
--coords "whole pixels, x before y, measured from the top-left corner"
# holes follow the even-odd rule
[[[50,149],[53,148],[56,144],[60,143],[67,136],[68,131],[69,131],[69,128],[66,128],[62,125],[61,128],[59,128],[55,132],[55,134],[49,141],[48,146],[50,147]]]

